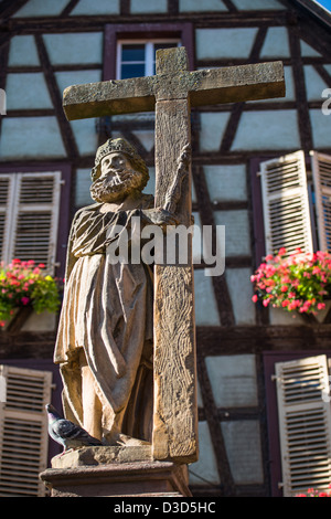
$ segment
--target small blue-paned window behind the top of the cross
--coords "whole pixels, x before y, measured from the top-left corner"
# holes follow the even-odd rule
[[[118,41],[117,80],[151,76],[156,74],[156,52],[180,45],[179,40]]]

